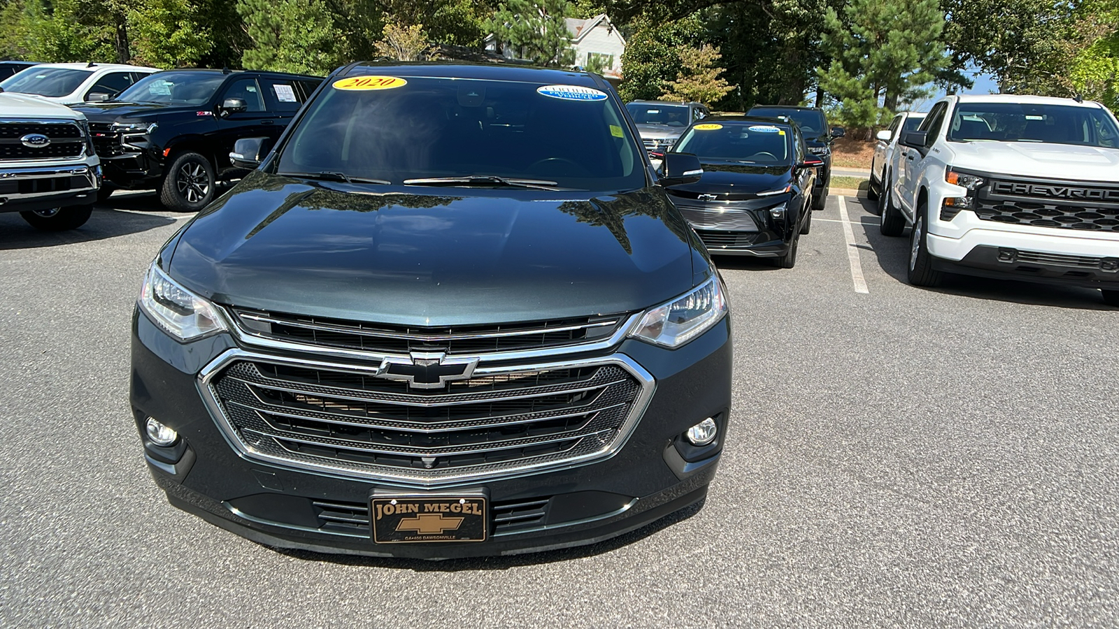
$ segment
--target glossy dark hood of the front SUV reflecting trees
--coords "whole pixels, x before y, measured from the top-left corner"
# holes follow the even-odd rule
[[[393,189],[253,171],[167,270],[223,304],[413,326],[636,311],[693,287],[689,228],[658,188]]]

